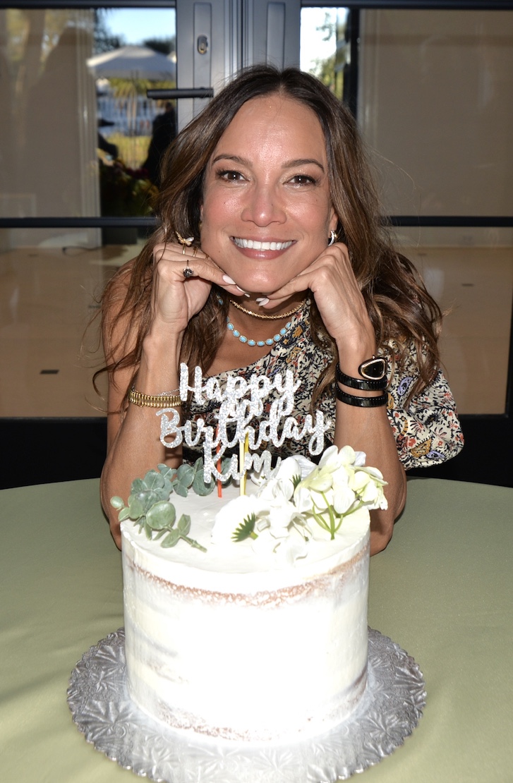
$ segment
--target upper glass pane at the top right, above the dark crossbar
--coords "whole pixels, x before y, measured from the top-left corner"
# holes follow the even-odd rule
[[[358,116],[388,211],[513,214],[513,13],[367,10],[360,33]]]

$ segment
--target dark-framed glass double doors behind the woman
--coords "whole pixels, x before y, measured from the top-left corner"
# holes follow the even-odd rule
[[[443,361],[466,446],[436,470],[511,485],[513,2],[393,5],[2,2],[5,485],[99,474],[105,403],[91,386],[97,328],[85,327],[154,223],[152,145],[159,157],[206,100],[148,90],[216,88],[266,59],[301,61],[352,106],[399,244],[449,312]]]

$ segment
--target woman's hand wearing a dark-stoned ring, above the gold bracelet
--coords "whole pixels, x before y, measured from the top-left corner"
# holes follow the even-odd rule
[[[187,268],[193,272],[192,276],[184,276]],[[154,247],[153,324],[164,324],[175,333],[185,331],[190,319],[204,307],[212,283],[233,296],[244,294],[198,247],[157,244]]]

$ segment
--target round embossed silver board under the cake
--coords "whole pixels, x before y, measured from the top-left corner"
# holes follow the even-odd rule
[[[67,690],[73,720],[96,750],[135,774],[165,783],[347,780],[403,745],[425,697],[414,659],[372,629],[367,690],[356,712],[327,734],[294,745],[201,742],[151,720],[128,697],[122,628],[82,656]]]

